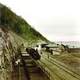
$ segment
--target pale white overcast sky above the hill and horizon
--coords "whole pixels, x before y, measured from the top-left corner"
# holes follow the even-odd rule
[[[0,0],[50,41],[80,41],[79,0]]]

